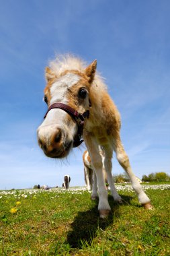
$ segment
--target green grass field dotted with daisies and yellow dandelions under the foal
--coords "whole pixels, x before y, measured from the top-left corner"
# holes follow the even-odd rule
[[[153,211],[117,188],[107,220],[82,189],[0,191],[0,255],[170,255],[170,185],[144,185]]]

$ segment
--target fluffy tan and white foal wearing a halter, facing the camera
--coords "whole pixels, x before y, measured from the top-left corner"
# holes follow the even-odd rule
[[[108,95],[103,80],[96,72],[97,61],[89,66],[71,55],[61,55],[46,67],[47,85],[44,101],[48,111],[38,127],[38,143],[46,156],[64,158],[71,148],[79,146],[82,135],[97,176],[99,216],[110,213],[108,191],[103,179],[103,164],[99,145],[105,154],[104,167],[108,183],[113,186],[112,154],[127,172],[138,200],[144,208],[152,209],[151,201],[132,172],[120,139],[120,114]],[[115,200],[115,193],[111,190]],[[97,195],[92,195],[96,197]]]

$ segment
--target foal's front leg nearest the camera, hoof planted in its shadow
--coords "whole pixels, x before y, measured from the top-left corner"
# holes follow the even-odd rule
[[[103,179],[103,164],[101,161],[101,156],[99,154],[99,147],[97,143],[95,143],[95,141],[91,139],[91,137],[86,137],[84,135],[84,139],[91,158],[91,165],[93,166],[93,170],[95,171],[97,177],[99,195],[99,216],[100,218],[106,218],[109,215],[111,209],[108,203],[108,191],[105,189],[105,183]]]

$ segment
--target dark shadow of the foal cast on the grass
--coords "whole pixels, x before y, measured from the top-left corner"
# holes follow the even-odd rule
[[[128,205],[132,197],[121,196],[123,205]],[[81,249],[83,244],[91,245],[91,241],[97,236],[97,230],[100,228],[105,230],[108,226],[113,224],[114,218],[119,216],[120,205],[116,203],[111,196],[108,197],[112,212],[107,219],[99,218],[97,210],[98,200],[95,206],[86,212],[78,212],[75,220],[71,224],[71,231],[67,234],[67,241],[72,248]],[[83,242],[83,243],[82,243]]]

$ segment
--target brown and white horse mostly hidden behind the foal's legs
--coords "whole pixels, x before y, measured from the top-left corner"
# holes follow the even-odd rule
[[[102,162],[104,162],[104,153],[101,149],[99,150],[99,153],[101,155]],[[83,153],[83,164],[84,164],[85,184],[87,186],[87,189],[92,190],[93,188],[93,193],[97,193],[97,177],[95,175],[95,172],[93,172],[93,167],[91,165],[91,158],[87,150],[85,150],[85,152]],[[107,177],[107,173],[105,172],[104,165],[103,165],[103,179],[105,183],[108,183],[108,177]],[[120,200],[121,200],[121,197],[120,197]]]

